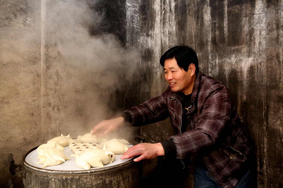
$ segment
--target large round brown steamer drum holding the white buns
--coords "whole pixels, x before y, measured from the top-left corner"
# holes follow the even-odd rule
[[[135,142],[129,140],[128,142],[130,145],[136,145]],[[134,158],[119,165],[93,170],[46,170],[32,166],[25,160],[26,156],[36,148],[31,149],[23,156],[23,165],[15,165],[12,154],[10,154],[12,155],[10,158],[12,158],[8,159],[11,174],[22,177],[25,188],[142,187],[142,161],[134,162]]]

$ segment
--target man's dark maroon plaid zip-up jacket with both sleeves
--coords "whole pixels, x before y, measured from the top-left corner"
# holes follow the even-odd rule
[[[177,159],[199,155],[214,180],[223,188],[233,188],[241,179],[251,144],[241,125],[228,88],[220,81],[199,72],[194,83],[191,107],[186,112],[190,130],[181,133],[185,113],[183,97],[170,86],[161,95],[132,107],[135,126],[170,118],[175,135],[171,139]]]

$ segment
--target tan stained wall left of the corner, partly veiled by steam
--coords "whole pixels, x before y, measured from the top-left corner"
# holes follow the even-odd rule
[[[118,8],[125,3],[0,5],[0,187],[7,187],[9,153],[20,164],[27,151],[49,139],[89,133],[122,112],[140,58],[123,47],[125,24],[115,28],[125,17],[125,8],[122,13]],[[19,186],[20,179],[14,179]]]

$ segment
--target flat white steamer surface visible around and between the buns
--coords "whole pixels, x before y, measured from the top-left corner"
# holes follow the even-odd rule
[[[132,147],[133,145],[128,145],[128,147]],[[73,154],[73,152],[71,151],[71,149],[69,148],[69,146],[66,146],[64,147],[64,151],[65,155],[67,157],[70,158],[70,160],[66,160],[65,162],[63,162],[62,164],[60,165],[55,165],[55,166],[47,166],[43,169],[45,170],[57,170],[57,171],[80,171],[80,170],[85,170],[85,169],[82,169],[82,168],[79,168],[77,167],[76,163],[75,163],[75,157],[71,157],[71,154]],[[40,168],[43,166],[43,164],[36,164],[39,159],[37,159],[37,150],[33,150],[31,151],[25,158],[25,162],[28,163],[29,165],[31,166],[34,166],[34,167],[37,167],[37,168]],[[115,160],[113,161],[112,164],[107,164],[107,165],[104,165],[104,167],[110,167],[110,166],[114,166],[114,165],[120,165],[122,163],[125,163],[132,158],[129,158],[129,159],[124,159],[124,160],[121,160],[120,157],[122,156],[122,154],[117,154],[116,155],[116,158]],[[90,170],[94,170],[94,169],[100,169],[98,167],[92,167]]]

